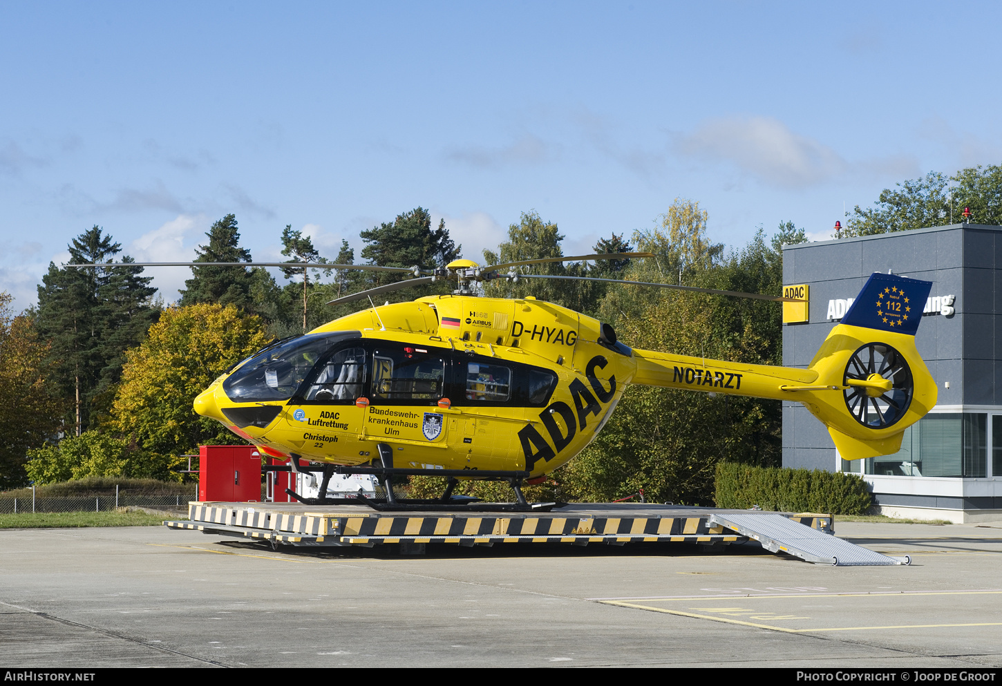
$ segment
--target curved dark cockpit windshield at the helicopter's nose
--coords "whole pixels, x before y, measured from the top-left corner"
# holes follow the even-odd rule
[[[340,340],[358,332],[307,333],[268,348],[222,383],[234,403],[288,401],[317,363]]]

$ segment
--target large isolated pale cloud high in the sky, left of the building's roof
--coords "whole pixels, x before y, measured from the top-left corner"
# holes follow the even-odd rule
[[[692,133],[676,136],[675,148],[692,157],[729,161],[781,187],[820,183],[847,167],[835,150],[772,117],[709,119]]]

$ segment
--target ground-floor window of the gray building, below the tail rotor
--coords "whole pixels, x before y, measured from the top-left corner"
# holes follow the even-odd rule
[[[987,424],[988,416],[980,413],[927,415],[905,430],[900,451],[868,458],[865,472],[899,477],[984,477]],[[992,429],[992,438],[1002,439],[994,426]],[[992,452],[994,467],[998,453]]]

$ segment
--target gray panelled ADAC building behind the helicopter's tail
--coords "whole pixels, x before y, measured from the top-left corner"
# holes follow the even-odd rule
[[[974,522],[1002,514],[1002,226],[951,224],[783,249],[807,284],[808,320],[783,328],[784,365],[807,368],[874,271],[932,281],[916,346],[939,389],[895,455],[843,461],[825,427],[784,403],[784,467],[861,474],[882,512]]]

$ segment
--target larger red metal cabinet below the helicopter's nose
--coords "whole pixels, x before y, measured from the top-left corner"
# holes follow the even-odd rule
[[[261,500],[261,453],[254,446],[199,446],[198,500]]]

